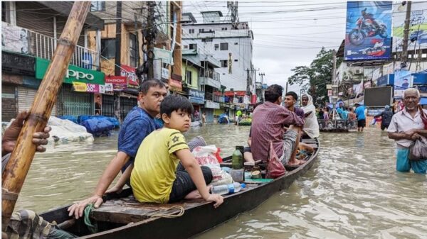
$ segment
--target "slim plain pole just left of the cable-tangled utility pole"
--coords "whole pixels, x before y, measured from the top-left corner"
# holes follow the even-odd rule
[[[122,1],[116,1],[116,41],[115,41],[115,68],[114,74],[116,76],[121,75],[120,65],[121,65],[121,42],[122,42]],[[117,120],[120,121],[120,91],[114,92],[114,114]],[[121,121],[120,121],[121,123]]]

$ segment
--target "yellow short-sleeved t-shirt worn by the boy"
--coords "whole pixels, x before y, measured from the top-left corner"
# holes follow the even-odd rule
[[[144,138],[130,176],[135,199],[166,204],[179,163],[174,152],[188,148],[184,135],[171,128],[155,130]]]

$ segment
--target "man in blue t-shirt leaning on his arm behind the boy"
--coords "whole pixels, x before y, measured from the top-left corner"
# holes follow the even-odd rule
[[[68,208],[70,216],[74,214],[75,218],[82,217],[88,204],[95,204],[95,208],[102,204],[102,195],[117,177],[120,169],[124,171],[132,165],[142,140],[157,128],[154,117],[160,112],[160,104],[165,96],[167,89],[159,80],[147,80],[141,84],[139,105],[127,113],[120,128],[117,154],[102,174],[93,196]]]

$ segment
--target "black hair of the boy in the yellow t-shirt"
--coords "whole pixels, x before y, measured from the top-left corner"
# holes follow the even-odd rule
[[[179,94],[170,94],[169,96],[164,97],[162,104],[160,104],[160,114],[164,113],[167,116],[171,116],[173,111],[184,111],[186,113],[193,113],[194,108],[189,99],[186,99],[184,96]]]

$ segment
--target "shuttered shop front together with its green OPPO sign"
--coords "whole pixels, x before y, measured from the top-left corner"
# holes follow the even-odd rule
[[[49,61],[36,58],[36,79],[43,79]],[[97,96],[105,93],[105,74],[69,65],[57,100],[57,115],[94,115]]]

